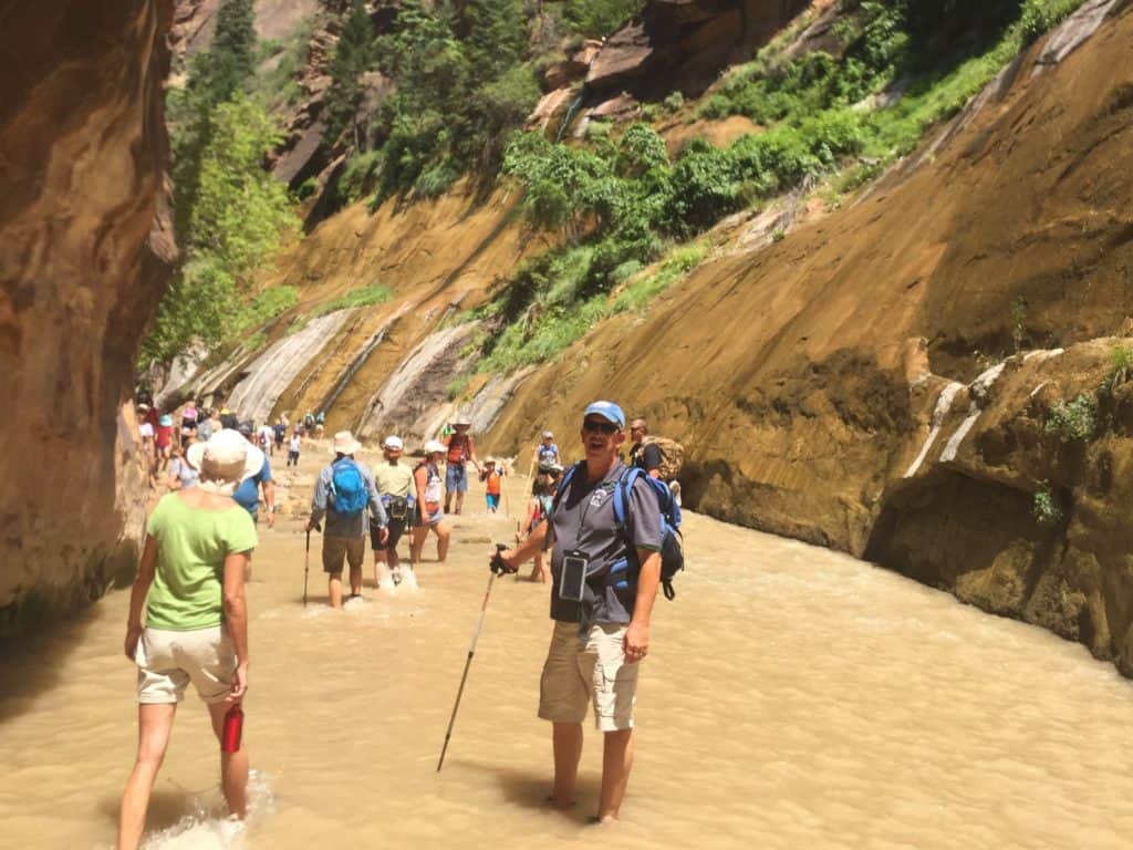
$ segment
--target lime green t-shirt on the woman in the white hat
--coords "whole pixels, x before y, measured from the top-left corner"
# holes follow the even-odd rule
[[[146,626],[193,631],[220,626],[224,559],[256,547],[252,516],[236,502],[225,510],[194,508],[176,493],[150,515],[157,569],[146,603]]]

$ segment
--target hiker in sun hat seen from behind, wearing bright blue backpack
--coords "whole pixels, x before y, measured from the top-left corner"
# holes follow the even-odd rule
[[[310,500],[309,532],[326,517],[323,529],[323,571],[327,573],[331,607],[342,607],[342,562],[350,564],[350,598],[361,596],[361,564],[366,560],[366,534],[370,517],[378,542],[389,537],[385,510],[377,496],[374,476],[355,460],[361,445],[349,431],[334,435],[334,460],[323,467]]]

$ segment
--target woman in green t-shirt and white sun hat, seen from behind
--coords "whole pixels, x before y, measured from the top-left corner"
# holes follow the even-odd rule
[[[142,839],[177,704],[189,682],[208,706],[218,739],[225,713],[247,694],[244,576],[256,528],[229,496],[258,468],[258,454],[235,431],[195,443],[188,459],[199,468],[201,484],[164,495],[150,515],[123,644],[138,668],[138,749],[122,793],[119,850],[135,850]],[[221,753],[220,767],[228,808],[244,818],[247,749]]]

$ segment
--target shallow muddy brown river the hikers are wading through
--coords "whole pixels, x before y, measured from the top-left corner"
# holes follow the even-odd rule
[[[147,848],[1133,845],[1133,689],[1110,665],[870,564],[697,516],[678,598],[655,611],[620,824],[588,824],[602,751],[589,721],[578,809],[544,804],[544,586],[495,583],[437,774],[489,541],[514,529],[482,512],[478,492],[469,502],[450,562],[428,560],[427,545],[417,592],[375,592],[367,567],[366,598],[341,613],[325,606],[317,538],[304,609],[298,521],[262,528],[248,587],[249,821],[219,816],[216,745],[190,692]],[[0,847],[112,847],[136,736],[127,601],[112,593],[7,647]]]

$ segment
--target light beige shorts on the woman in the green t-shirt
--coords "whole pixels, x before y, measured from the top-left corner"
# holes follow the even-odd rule
[[[193,682],[206,703],[228,696],[236,672],[236,651],[221,626],[193,631],[143,629],[134,653],[138,665],[138,702],[180,703]]]

